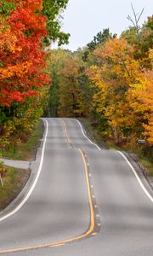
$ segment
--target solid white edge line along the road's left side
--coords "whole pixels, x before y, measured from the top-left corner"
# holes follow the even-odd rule
[[[45,149],[45,143],[46,143],[46,137],[48,135],[48,121],[46,119],[44,119],[46,122],[46,133],[45,133],[45,137],[44,137],[44,142],[43,142],[43,146],[42,146],[42,156],[41,156],[41,161],[40,161],[40,165],[37,171],[37,177],[34,180],[34,183],[31,186],[31,189],[29,190],[29,192],[27,193],[26,197],[24,198],[23,201],[20,202],[20,205],[18,207],[16,207],[12,212],[9,212],[8,214],[6,214],[5,216],[3,216],[2,218],[0,218],[0,221],[3,221],[3,219],[10,217],[11,215],[13,215],[14,213],[18,212],[20,210],[21,207],[23,207],[23,205],[26,203],[26,201],[28,200],[28,198],[30,197],[32,191],[35,189],[36,184],[37,184],[37,180],[40,176],[40,173],[42,171],[42,163],[43,163],[43,157],[44,157],[44,149]]]

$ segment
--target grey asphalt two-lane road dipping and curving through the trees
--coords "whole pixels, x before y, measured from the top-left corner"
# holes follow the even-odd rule
[[[145,191],[122,154],[92,143],[76,119],[44,122],[25,199],[0,214],[0,255],[152,256],[147,184]]]

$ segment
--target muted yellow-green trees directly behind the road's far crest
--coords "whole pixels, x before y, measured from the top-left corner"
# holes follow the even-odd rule
[[[82,51],[54,49],[50,55],[52,86],[48,95],[48,116],[88,116],[91,92],[85,74]]]

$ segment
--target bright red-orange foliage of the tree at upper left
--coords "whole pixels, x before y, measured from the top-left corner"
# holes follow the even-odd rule
[[[16,9],[0,21],[0,103],[5,106],[24,102],[48,83],[42,72],[45,52],[41,40],[47,35],[46,19],[38,14],[42,0],[15,2]]]

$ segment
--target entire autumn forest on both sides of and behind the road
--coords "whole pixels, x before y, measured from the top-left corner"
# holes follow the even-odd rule
[[[105,141],[137,148],[143,139],[150,151],[153,16],[119,37],[104,28],[71,52],[60,47],[70,34],[57,18],[67,2],[0,3],[1,154],[25,142],[42,116],[90,119]]]

